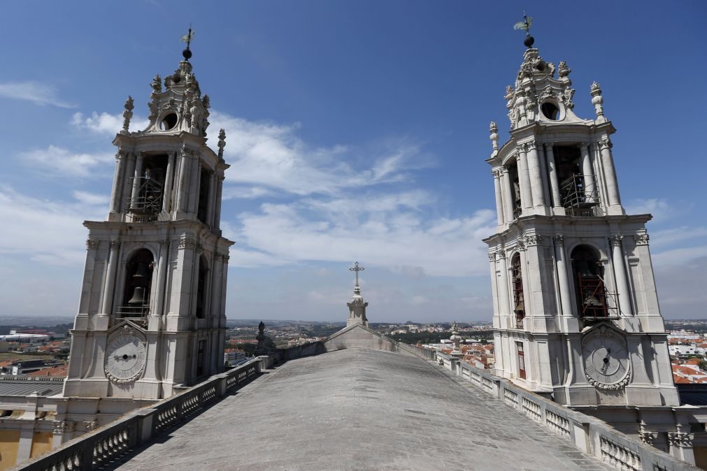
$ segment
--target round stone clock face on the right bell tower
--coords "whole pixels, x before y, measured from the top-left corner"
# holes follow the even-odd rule
[[[595,336],[583,348],[584,371],[594,386],[624,386],[629,374],[629,352],[623,339]]]

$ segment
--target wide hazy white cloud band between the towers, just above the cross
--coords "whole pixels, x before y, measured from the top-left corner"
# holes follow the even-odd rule
[[[488,271],[481,238],[493,233],[491,210],[431,219],[398,205],[369,210],[375,198],[368,198],[334,201],[327,211],[309,200],[264,203],[259,213],[239,216],[237,237],[244,246],[281,263],[358,260],[416,275],[463,276]]]

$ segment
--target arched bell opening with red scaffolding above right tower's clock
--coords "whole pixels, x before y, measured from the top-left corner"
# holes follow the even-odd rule
[[[604,266],[599,251],[588,245],[579,245],[572,251],[571,258],[580,317],[608,316]]]

